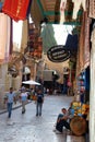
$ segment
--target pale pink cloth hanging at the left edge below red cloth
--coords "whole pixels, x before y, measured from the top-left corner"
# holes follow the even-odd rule
[[[10,22],[7,14],[0,13],[0,63],[9,61],[10,57]]]

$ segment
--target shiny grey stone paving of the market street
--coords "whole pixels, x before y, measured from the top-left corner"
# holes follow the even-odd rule
[[[75,137],[64,131],[62,134],[54,132],[54,126],[62,107],[68,108],[72,96],[45,96],[43,115],[36,117],[36,105],[26,105],[26,113],[22,115],[21,107],[8,114],[0,115],[0,142],[85,142],[83,137]]]

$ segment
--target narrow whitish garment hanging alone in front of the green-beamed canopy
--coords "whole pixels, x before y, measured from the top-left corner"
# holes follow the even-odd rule
[[[64,22],[64,9],[66,9],[67,0],[61,0],[60,2],[60,24]]]

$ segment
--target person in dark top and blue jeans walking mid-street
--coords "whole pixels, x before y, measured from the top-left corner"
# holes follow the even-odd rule
[[[41,116],[41,108],[44,103],[44,94],[41,90],[38,90],[36,94],[36,116]]]

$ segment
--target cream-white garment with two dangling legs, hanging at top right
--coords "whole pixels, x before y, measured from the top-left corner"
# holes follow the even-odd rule
[[[72,0],[72,2],[74,3],[72,19],[75,20],[81,5],[83,7],[83,10],[86,11],[86,0]]]

